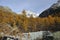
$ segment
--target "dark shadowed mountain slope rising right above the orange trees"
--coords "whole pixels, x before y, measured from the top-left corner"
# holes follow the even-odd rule
[[[43,11],[39,17],[58,16],[60,17],[60,1],[54,3],[50,8]]]

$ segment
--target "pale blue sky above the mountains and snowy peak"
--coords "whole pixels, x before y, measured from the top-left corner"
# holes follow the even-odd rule
[[[56,2],[57,0],[0,0],[0,5],[8,6],[17,13],[23,9],[41,13]]]

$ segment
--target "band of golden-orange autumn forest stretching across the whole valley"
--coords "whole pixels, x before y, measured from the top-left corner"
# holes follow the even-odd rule
[[[37,31],[58,31],[60,30],[60,17],[29,18],[23,10],[21,14],[13,12],[10,8],[0,6],[0,32],[8,35],[16,35],[21,32],[37,32]]]

